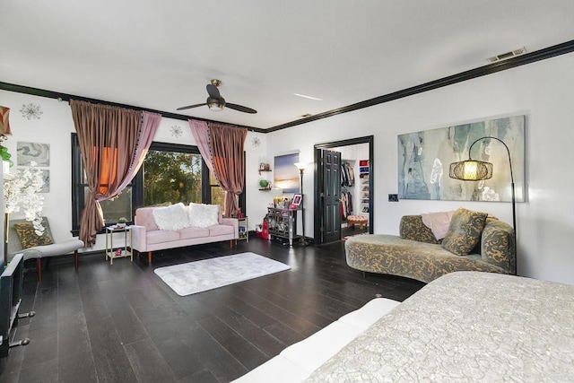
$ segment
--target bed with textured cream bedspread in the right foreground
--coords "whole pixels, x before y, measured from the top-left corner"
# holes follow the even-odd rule
[[[240,381],[574,380],[574,286],[456,272],[387,311],[309,373],[285,378],[264,364]]]

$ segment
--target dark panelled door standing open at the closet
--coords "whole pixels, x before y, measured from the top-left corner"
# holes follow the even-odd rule
[[[321,242],[341,239],[341,153],[322,150],[323,224]]]

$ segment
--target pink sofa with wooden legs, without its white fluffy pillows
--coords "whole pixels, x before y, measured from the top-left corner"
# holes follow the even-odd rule
[[[222,218],[219,214],[219,224],[207,228],[187,227],[178,231],[160,230],[153,218],[153,209],[159,207],[141,207],[135,210],[135,225],[132,226],[132,247],[140,253],[147,253],[147,260],[152,263],[152,251],[165,248],[182,248],[202,243],[220,242],[239,238],[238,221],[236,218]],[[189,206],[186,206],[189,213]]]

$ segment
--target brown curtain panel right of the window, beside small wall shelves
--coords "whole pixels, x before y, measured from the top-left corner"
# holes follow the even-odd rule
[[[226,217],[234,216],[238,211],[237,196],[243,192],[243,145],[247,135],[246,128],[209,124],[213,172],[225,190]]]

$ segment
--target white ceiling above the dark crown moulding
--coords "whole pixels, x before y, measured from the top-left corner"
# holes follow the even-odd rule
[[[0,82],[269,128],[570,41],[573,17],[572,0],[4,0]],[[213,78],[257,114],[176,110]]]

